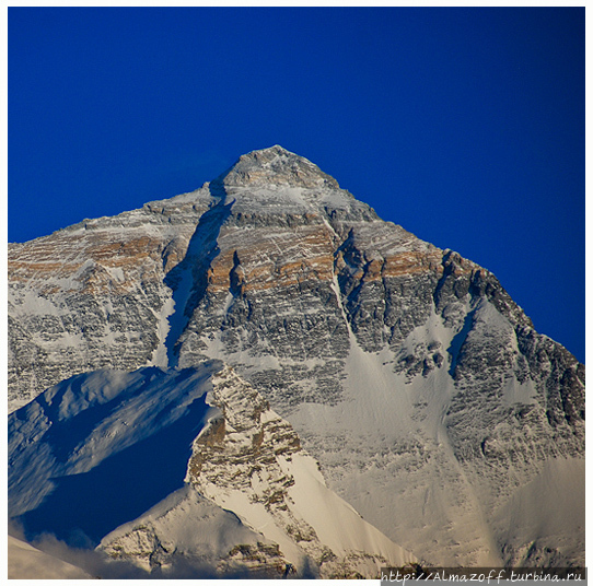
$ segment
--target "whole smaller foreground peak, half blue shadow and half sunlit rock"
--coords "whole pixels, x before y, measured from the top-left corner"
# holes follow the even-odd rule
[[[327,489],[292,426],[217,361],[73,376],[12,413],[9,436],[9,508],[32,538],[147,571],[350,577],[415,561]]]

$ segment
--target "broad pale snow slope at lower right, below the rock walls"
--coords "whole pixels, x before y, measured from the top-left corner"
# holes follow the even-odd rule
[[[488,303],[477,307],[475,319],[508,327]],[[432,313],[407,337],[402,353],[430,344],[453,349],[454,338],[455,331]],[[455,430],[479,435],[509,427],[498,448],[504,455],[500,464],[482,459],[468,466],[451,429],[454,401],[466,399],[447,368],[428,377],[397,374],[392,351],[364,352],[351,332],[350,339],[344,400],[335,406],[305,402],[289,417],[340,496],[427,564],[584,563],[584,458],[568,450],[525,461],[513,457],[505,447],[519,447],[510,415],[498,426],[465,423]],[[530,407],[533,417],[545,417],[531,380],[507,380],[501,391],[492,410],[502,405],[513,413]],[[485,464],[490,476],[480,473],[478,465]],[[518,484],[524,485],[516,490]],[[571,496],[559,506],[562,488]]]

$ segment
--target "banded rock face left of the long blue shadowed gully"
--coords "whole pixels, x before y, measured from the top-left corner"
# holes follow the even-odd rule
[[[9,408],[73,374],[166,365],[164,279],[208,204],[181,197],[9,245]]]

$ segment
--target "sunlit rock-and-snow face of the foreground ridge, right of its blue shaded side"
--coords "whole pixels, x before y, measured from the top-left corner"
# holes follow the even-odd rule
[[[414,561],[327,489],[290,423],[231,367],[213,377],[208,402],[220,412],[194,443],[187,481],[249,527],[277,536],[295,571],[373,577],[382,566]]]

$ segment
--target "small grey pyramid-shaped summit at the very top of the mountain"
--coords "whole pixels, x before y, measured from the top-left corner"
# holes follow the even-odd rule
[[[334,187],[338,181],[304,156],[279,144],[243,154],[219,180],[225,186],[284,185],[291,187]]]

